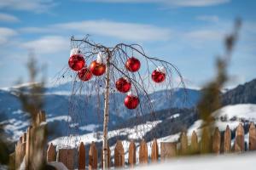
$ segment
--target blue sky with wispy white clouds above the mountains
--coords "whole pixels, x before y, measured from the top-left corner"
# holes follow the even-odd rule
[[[256,2],[253,0],[0,0],[0,87],[23,77],[32,50],[47,65],[49,82],[67,65],[72,35],[90,34],[112,46],[137,42],[172,62],[188,87],[214,75],[223,37],[242,19],[227,87],[255,78]]]

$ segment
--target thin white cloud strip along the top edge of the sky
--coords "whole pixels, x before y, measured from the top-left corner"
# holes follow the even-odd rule
[[[90,3],[162,3],[175,7],[206,7],[222,3],[230,3],[230,0],[83,0]]]

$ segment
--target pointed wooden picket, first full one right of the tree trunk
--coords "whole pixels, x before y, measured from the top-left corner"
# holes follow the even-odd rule
[[[114,167],[125,166],[125,150],[122,141],[118,140],[114,148]]]

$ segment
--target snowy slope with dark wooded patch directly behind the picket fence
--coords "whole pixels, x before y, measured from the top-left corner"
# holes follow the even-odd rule
[[[188,112],[189,110],[184,111],[174,109],[172,110],[172,114],[164,114],[158,120],[153,121],[149,118],[138,125],[126,123],[123,127],[111,130],[108,133],[110,150],[114,150],[114,146],[118,139],[122,140],[125,149],[125,160],[127,160],[127,153],[131,140],[135,141],[138,154],[139,142],[142,139],[145,139],[148,144],[148,152],[150,153],[154,138],[158,139],[158,143],[174,142],[179,140],[182,131],[187,132],[190,143],[190,137],[193,131],[197,134],[201,133],[202,121],[200,119],[191,118],[191,116],[195,116],[195,112],[193,111],[187,116]],[[256,105],[227,105],[218,111],[213,112],[212,116],[215,117],[216,127],[218,127],[222,133],[227,125],[230,126],[232,143],[234,143],[236,127],[239,123],[242,123],[245,127],[245,142],[248,143],[248,125],[249,122],[256,123]],[[148,115],[148,117],[150,116]],[[190,120],[191,122],[188,123],[185,120]],[[81,141],[84,142],[86,150],[89,150],[92,141],[96,143],[97,148],[102,148],[102,133],[87,133],[73,137],[61,137],[50,142],[55,144],[57,148],[67,147],[67,145],[68,147],[77,148]]]

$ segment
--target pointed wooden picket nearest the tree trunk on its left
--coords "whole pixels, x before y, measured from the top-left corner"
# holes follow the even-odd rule
[[[92,142],[90,144],[90,150],[89,150],[89,169],[97,169],[98,164],[98,151],[96,149],[96,144]]]

